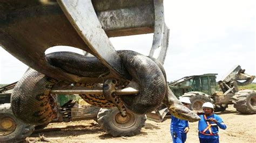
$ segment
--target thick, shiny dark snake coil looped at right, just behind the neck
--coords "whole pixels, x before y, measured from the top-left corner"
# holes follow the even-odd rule
[[[167,88],[162,71],[147,56],[133,51],[118,53],[132,79],[139,85],[138,95],[121,97],[126,108],[138,114],[153,111],[163,101]]]

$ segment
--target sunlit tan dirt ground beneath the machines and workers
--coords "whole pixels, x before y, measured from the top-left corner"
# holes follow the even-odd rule
[[[256,115],[242,115],[233,105],[226,111],[217,112],[227,125],[226,130],[219,132],[220,142],[256,142]],[[48,128],[56,131],[42,132],[44,137],[53,142],[171,142],[170,119],[163,123],[146,121],[142,131],[134,137],[113,138],[100,129],[94,120],[74,121],[71,123],[51,123]],[[190,123],[186,142],[199,142],[198,123]],[[28,139],[38,139],[39,133],[33,133]]]

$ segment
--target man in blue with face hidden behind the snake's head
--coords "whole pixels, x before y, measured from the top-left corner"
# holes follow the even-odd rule
[[[191,102],[190,99],[187,97],[181,97],[179,101],[189,108]],[[187,139],[187,132],[190,129],[188,127],[188,121],[178,119],[174,116],[171,117],[171,135],[172,135],[172,141],[173,142],[185,142]]]

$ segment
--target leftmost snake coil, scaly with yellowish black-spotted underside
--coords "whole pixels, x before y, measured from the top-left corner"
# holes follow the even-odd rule
[[[15,85],[11,95],[14,115],[25,123],[42,125],[49,123],[56,115],[54,101],[50,96],[54,80],[29,68]]]

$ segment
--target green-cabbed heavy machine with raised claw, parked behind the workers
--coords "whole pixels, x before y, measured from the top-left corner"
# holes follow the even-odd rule
[[[216,82],[218,74],[193,75],[180,78],[169,83],[169,87],[177,97],[188,97],[192,110],[202,110],[205,102],[212,102],[215,111],[225,111],[228,104],[241,113],[256,113],[256,91],[238,90],[238,85],[252,83],[255,76],[245,74],[245,69],[235,66],[223,80]]]

